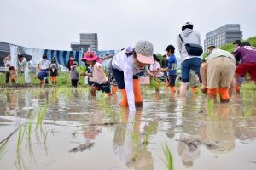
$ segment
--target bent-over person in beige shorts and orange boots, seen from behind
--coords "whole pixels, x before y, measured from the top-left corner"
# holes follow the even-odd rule
[[[208,99],[217,101],[217,93],[221,102],[229,102],[229,88],[236,69],[236,59],[232,54],[210,45],[211,54],[201,64],[201,92],[207,92]]]

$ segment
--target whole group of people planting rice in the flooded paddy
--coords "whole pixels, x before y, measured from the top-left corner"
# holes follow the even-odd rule
[[[214,44],[207,47],[210,54],[202,59],[203,53],[201,47],[201,36],[194,30],[191,22],[183,24],[180,34],[177,36],[177,50],[181,56],[181,84],[179,89],[175,88],[177,80],[177,59],[175,57],[175,48],[173,45],[166,47],[166,64],[160,66],[157,55],[154,54],[154,46],[151,42],[138,41],[134,47],[122,49],[118,54],[110,58],[108,75],[101,65],[101,59],[94,52],[86,52],[82,61],[90,68],[83,76],[92,77],[89,84],[91,95],[96,95],[96,91],[102,91],[108,95],[116,92],[117,88],[122,95],[120,106],[128,106],[130,111],[135,111],[136,106],[143,105],[143,97],[138,77],[148,74],[154,80],[157,80],[159,90],[160,82],[166,82],[166,87],[170,88],[172,94],[179,92],[180,95],[187,94],[190,85],[192,92],[196,92],[196,83],[191,83],[191,76],[198,77],[201,83],[201,92],[207,93],[208,99],[217,100],[217,94],[221,102],[230,101],[231,94],[239,91],[237,80],[245,77],[247,73],[251,79],[256,82],[256,48],[248,42],[234,42],[236,49],[230,53],[217,48]],[[19,65],[23,67],[26,82],[29,83],[28,66],[26,59],[18,56]],[[8,67],[6,82],[15,83],[15,68],[9,66],[9,60],[5,59]],[[79,71],[77,71],[78,62],[73,56],[67,63],[70,73],[70,79],[73,87],[77,87],[79,82]],[[148,68],[149,66],[149,68]],[[55,58],[47,60],[44,55],[42,61],[38,64],[38,79],[41,85],[48,83],[48,74],[53,85],[57,85],[58,64]],[[194,75],[194,76],[193,76]],[[110,86],[113,85],[111,90]],[[113,93],[112,93],[112,92]]]

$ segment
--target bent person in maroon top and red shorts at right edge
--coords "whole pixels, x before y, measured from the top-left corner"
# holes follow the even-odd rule
[[[256,84],[256,48],[248,42],[242,42],[241,46],[237,47],[232,54],[236,60],[241,60],[241,63],[236,66],[235,84],[237,85],[237,78],[245,77],[247,72]]]

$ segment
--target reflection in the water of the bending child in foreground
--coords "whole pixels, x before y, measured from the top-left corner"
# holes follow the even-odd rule
[[[158,122],[149,122],[140,131],[142,111],[137,111],[135,116],[124,115],[124,122],[120,123],[114,132],[113,152],[126,167],[131,169],[154,169],[154,161],[150,151],[143,145],[143,134],[150,128],[153,135],[158,127]],[[145,144],[145,143],[144,143]]]

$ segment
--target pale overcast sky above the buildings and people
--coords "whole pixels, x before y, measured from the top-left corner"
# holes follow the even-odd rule
[[[201,33],[240,24],[256,35],[255,0],[0,0],[0,41],[28,48],[70,50],[79,33],[98,33],[99,49],[119,49],[145,39],[164,54],[183,22]]]

